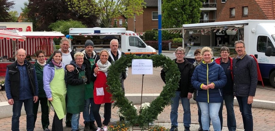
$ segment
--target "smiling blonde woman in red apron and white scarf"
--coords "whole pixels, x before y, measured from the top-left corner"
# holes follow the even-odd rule
[[[108,123],[111,119],[111,107],[114,101],[111,100],[112,95],[107,91],[106,87],[108,87],[107,83],[107,75],[108,69],[111,66],[111,63],[108,61],[109,53],[107,50],[100,51],[100,60],[94,64],[92,68],[92,81],[94,81],[94,105],[93,105],[93,113],[94,119],[97,122],[97,131],[103,130],[103,128],[107,129]],[[104,121],[103,125],[101,123],[101,117],[99,114],[99,109],[101,104],[104,105]]]

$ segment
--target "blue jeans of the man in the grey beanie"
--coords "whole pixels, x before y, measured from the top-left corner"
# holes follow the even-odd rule
[[[94,105],[94,98],[89,98],[85,100],[84,111],[83,111],[84,124],[86,122],[95,121],[94,114],[93,114],[93,105]]]

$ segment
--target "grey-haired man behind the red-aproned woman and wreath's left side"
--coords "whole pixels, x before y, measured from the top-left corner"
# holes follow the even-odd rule
[[[118,50],[118,40],[117,39],[112,39],[110,42],[110,48],[108,50],[109,52],[109,58],[108,61],[110,63],[115,62],[116,60],[118,60],[120,57],[125,57],[124,52]],[[126,79],[126,77],[128,76],[128,67],[125,69],[125,72],[121,73],[120,79],[121,79],[121,86],[122,86],[122,90],[123,92],[125,92],[124,89],[124,80]],[[120,121],[124,120],[123,117],[120,116]]]

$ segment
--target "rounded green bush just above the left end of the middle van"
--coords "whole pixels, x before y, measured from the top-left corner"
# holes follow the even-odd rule
[[[87,25],[83,25],[80,21],[75,20],[59,20],[48,26],[52,31],[60,31],[63,34],[69,34],[70,28],[87,28]]]

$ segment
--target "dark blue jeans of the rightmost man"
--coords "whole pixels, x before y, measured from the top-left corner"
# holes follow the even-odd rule
[[[253,117],[251,111],[252,104],[247,104],[248,96],[236,96],[236,98],[239,103],[240,112],[242,113],[242,121],[244,123],[245,131],[253,131]]]

